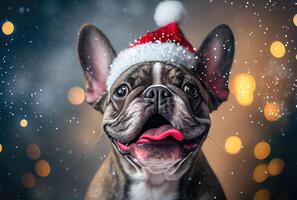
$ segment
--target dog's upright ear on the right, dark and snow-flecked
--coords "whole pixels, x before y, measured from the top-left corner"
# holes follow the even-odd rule
[[[196,70],[209,91],[210,112],[228,98],[228,79],[233,55],[234,37],[227,25],[220,25],[208,34],[197,52]]]

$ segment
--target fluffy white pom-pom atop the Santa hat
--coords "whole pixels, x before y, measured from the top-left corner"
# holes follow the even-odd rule
[[[171,22],[181,23],[185,18],[186,10],[179,1],[163,1],[155,10],[154,20],[157,26],[165,26]]]

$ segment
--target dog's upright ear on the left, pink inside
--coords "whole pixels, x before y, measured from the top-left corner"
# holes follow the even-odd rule
[[[103,111],[105,81],[115,51],[102,31],[90,24],[80,29],[77,49],[85,75],[86,101],[97,110]]]

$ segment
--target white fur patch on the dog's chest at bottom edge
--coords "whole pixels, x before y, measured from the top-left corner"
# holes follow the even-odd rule
[[[165,182],[151,186],[148,182],[134,182],[130,185],[129,200],[173,200],[177,196],[176,183]]]

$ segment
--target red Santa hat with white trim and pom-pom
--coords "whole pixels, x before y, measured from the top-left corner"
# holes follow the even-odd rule
[[[184,16],[185,9],[181,2],[161,2],[154,15],[156,24],[161,27],[141,36],[128,49],[118,54],[110,67],[106,80],[107,89],[110,90],[125,70],[146,61],[168,61],[192,68],[196,63],[196,50],[178,25]]]

